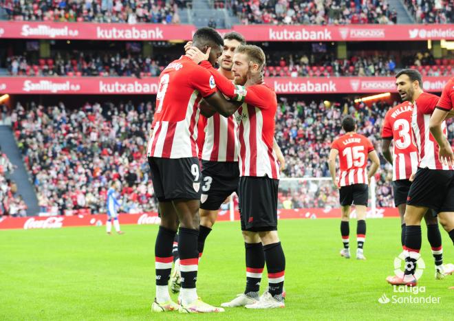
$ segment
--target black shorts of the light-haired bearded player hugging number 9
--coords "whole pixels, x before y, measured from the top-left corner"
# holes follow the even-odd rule
[[[279,179],[239,177],[239,216],[241,230],[277,230],[277,188]]]

